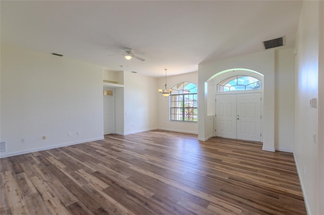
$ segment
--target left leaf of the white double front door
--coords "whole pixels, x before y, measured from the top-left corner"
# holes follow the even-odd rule
[[[216,95],[216,136],[236,139],[236,94]]]

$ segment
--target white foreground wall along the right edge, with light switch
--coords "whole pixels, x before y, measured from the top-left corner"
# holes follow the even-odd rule
[[[323,13],[322,2],[304,1],[296,38],[294,155],[308,214],[324,214],[323,127],[321,126],[320,130],[318,127],[323,125],[321,110],[323,107],[310,108],[309,106],[310,98],[317,98],[320,103],[323,103],[323,98],[319,98],[319,90],[323,95],[323,88],[318,87],[322,85],[324,72],[323,67],[319,68],[319,62],[323,61],[323,53],[319,49],[319,44],[323,48],[324,40]],[[319,134],[316,143],[313,141],[313,133]]]

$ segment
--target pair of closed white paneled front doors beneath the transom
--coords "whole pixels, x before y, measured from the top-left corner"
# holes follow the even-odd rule
[[[216,95],[216,136],[261,141],[261,93]]]

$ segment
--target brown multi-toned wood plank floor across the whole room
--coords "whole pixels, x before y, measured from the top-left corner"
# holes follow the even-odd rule
[[[1,214],[306,214],[292,153],[161,130],[1,160]]]

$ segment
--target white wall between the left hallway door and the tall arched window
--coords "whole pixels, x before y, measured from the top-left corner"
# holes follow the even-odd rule
[[[156,78],[124,72],[125,135],[157,128],[156,92]]]

